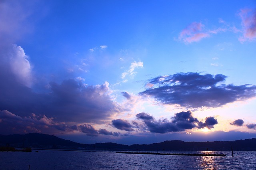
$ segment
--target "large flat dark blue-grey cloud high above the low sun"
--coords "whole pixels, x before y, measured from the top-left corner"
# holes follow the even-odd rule
[[[176,73],[150,79],[149,83],[154,86],[139,94],[154,97],[164,105],[186,108],[221,107],[255,97],[255,85],[217,85],[225,79],[226,76],[222,74]]]

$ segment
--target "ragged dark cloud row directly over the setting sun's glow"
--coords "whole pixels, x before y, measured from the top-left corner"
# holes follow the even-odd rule
[[[137,128],[148,129],[154,133],[167,133],[167,132],[181,132],[193,128],[214,128],[214,125],[218,124],[214,117],[208,117],[205,122],[198,121],[198,119],[192,117],[192,112],[180,112],[176,113],[171,120],[161,119],[156,121],[154,117],[147,113],[139,113],[136,115],[137,119],[142,120],[143,124],[134,122]]]

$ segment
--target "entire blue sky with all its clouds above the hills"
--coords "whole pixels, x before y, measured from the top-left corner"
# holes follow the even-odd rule
[[[255,0],[0,0],[0,134],[256,138]]]

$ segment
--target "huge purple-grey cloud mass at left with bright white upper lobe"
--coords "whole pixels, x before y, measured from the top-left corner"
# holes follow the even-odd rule
[[[86,85],[66,79],[62,83],[44,82],[48,84],[45,87],[35,84],[22,47],[14,44],[0,50],[0,81],[4,82],[0,83],[0,110],[20,117],[46,115],[65,123],[103,123],[122,110],[110,98],[108,82]]]

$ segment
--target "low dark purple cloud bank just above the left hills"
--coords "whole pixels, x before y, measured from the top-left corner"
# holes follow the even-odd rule
[[[45,134],[62,134],[63,132],[80,131],[88,136],[98,136],[99,134],[119,136],[120,132],[110,132],[100,128],[96,130],[90,124],[84,125],[66,125],[54,121],[54,118],[45,115],[35,115],[32,113],[29,117],[20,117],[8,112],[0,111],[0,134],[25,134],[25,133],[45,133]]]

